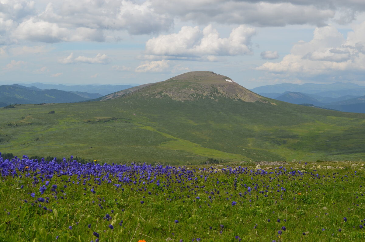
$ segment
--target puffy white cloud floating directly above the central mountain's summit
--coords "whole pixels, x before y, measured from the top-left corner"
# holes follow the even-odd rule
[[[216,61],[215,56],[252,54],[251,37],[255,30],[244,25],[234,28],[229,37],[220,38],[212,25],[201,31],[199,27],[183,26],[178,33],[159,35],[146,42],[146,54],[166,59],[204,58]]]

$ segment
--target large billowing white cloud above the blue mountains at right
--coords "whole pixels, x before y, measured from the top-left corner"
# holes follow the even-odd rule
[[[304,75],[365,72],[365,22],[355,25],[347,39],[333,26],[316,28],[311,41],[296,43],[282,61],[256,69]]]

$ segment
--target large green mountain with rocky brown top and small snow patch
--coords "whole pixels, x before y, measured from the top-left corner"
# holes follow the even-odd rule
[[[1,152],[18,156],[171,165],[365,159],[365,114],[265,98],[213,72],[184,73],[102,101],[14,106],[0,117]]]

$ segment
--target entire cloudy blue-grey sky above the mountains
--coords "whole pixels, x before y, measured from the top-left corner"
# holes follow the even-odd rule
[[[0,84],[365,86],[364,0],[0,0]]]

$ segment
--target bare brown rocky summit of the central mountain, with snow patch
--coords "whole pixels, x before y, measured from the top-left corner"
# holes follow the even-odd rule
[[[270,103],[262,97],[235,83],[231,78],[211,71],[192,71],[163,82],[143,84],[126,90],[114,92],[99,100],[115,99],[137,95],[144,98],[169,97],[177,101],[193,101],[197,99],[214,99],[224,97],[245,102]]]

